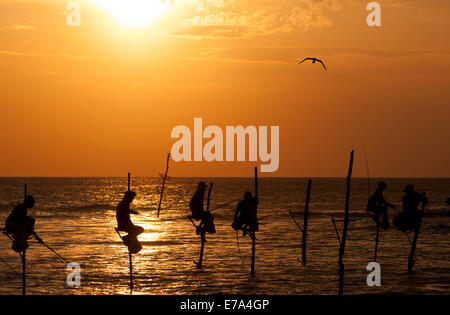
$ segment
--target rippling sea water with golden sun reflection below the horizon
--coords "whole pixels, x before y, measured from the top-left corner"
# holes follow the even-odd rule
[[[143,249],[133,255],[135,294],[337,294],[339,242],[342,233],[345,178],[313,178],[308,224],[307,264],[301,257],[301,234],[288,211],[303,222],[307,180],[261,178],[256,243],[256,272],[250,275],[251,242],[231,228],[235,203],[213,212],[217,233],[207,235],[204,268],[198,270],[200,237],[187,220],[189,200],[198,181],[213,182],[211,208],[254,190],[253,178],[170,178],[162,210],[156,210],[162,180],[132,178],[137,197],[132,208]],[[414,272],[407,273],[408,235],[393,226],[381,231],[377,262],[381,286],[368,287],[366,266],[373,261],[375,224],[365,212],[368,193],[379,179],[352,180],[350,224],[344,256],[345,294],[449,294],[450,217],[444,201],[450,179],[384,179],[385,198],[401,208],[403,188],[426,191],[430,215],[423,219]],[[81,266],[81,286],[69,287],[67,264],[30,240],[27,250],[28,294],[129,294],[128,252],[114,231],[115,207],[127,189],[126,178],[0,178],[0,224],[23,200],[23,185],[36,199],[29,214],[36,232],[69,262]],[[389,210],[390,221],[400,210]],[[268,216],[270,215],[270,216]],[[409,235],[412,240],[412,235]],[[21,261],[11,242],[0,235],[0,257],[19,274]],[[0,262],[0,294],[21,294],[21,278]]]

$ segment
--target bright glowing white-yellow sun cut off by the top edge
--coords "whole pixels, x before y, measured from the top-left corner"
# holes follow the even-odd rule
[[[130,28],[145,28],[156,23],[170,6],[164,0],[95,0],[113,18]]]

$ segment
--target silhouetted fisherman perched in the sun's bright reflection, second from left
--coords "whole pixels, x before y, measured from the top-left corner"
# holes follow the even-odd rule
[[[128,233],[128,235],[123,236],[122,239],[132,254],[136,254],[142,249],[142,245],[139,243],[137,236],[144,232],[143,227],[134,225],[130,219],[131,213],[139,214],[130,209],[130,204],[135,197],[136,193],[134,191],[127,191],[123,196],[122,201],[117,205],[116,211],[117,230]]]

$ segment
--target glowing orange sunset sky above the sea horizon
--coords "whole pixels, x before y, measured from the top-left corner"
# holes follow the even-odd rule
[[[69,27],[69,1],[0,0],[0,176],[157,176],[172,128],[201,117],[279,125],[265,176],[345,176],[352,148],[366,176],[363,141],[371,176],[450,177],[448,0],[379,1],[379,28],[362,0],[178,0],[159,16],[98,1]],[[172,161],[170,175],[260,164]]]

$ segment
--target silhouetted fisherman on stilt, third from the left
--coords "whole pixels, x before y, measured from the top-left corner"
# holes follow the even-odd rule
[[[197,190],[192,196],[191,202],[189,203],[189,208],[191,209],[192,215],[189,215],[189,220],[201,220],[200,224],[196,228],[196,233],[201,234],[202,231],[208,233],[216,233],[216,227],[214,225],[214,216],[209,211],[204,210],[204,199],[206,191],[206,183],[199,182],[197,185]]]

